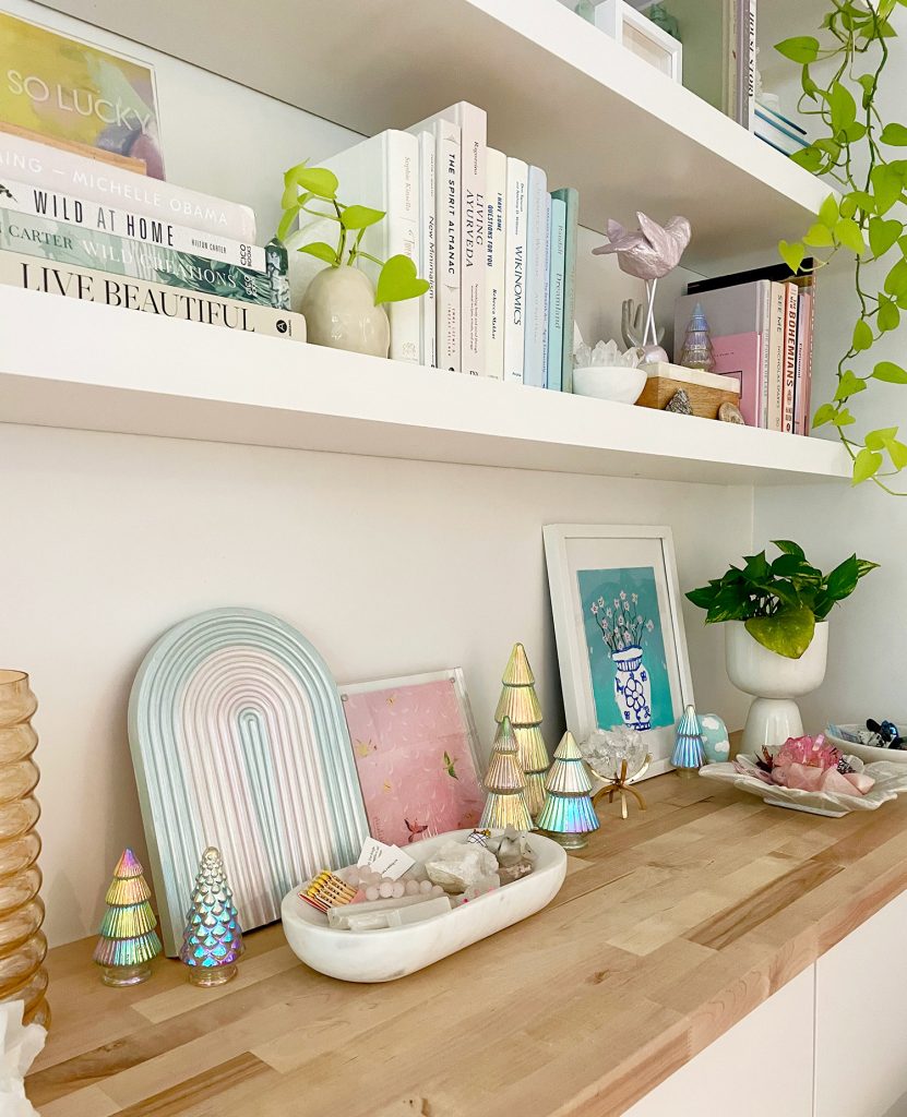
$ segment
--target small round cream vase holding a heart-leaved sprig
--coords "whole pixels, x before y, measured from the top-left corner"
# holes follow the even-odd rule
[[[308,341],[350,353],[386,356],[391,326],[374,297],[374,287],[359,268],[324,268],[303,297]]]

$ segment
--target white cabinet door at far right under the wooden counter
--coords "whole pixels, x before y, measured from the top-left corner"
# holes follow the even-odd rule
[[[815,963],[815,1117],[907,1113],[907,892]]]

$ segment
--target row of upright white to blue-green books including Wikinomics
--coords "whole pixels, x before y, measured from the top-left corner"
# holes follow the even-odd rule
[[[485,111],[461,102],[321,165],[343,201],[386,213],[363,249],[409,256],[431,284],[390,306],[392,359],[570,391],[579,195],[550,192],[544,170],[489,147],[486,133]],[[325,239],[317,220],[302,231]],[[318,262],[292,255],[299,289]],[[376,279],[376,265],[363,267]]]

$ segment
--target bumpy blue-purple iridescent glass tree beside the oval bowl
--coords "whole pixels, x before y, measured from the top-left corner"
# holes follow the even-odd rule
[[[192,906],[187,914],[180,961],[189,966],[193,985],[223,985],[236,977],[242,953],[242,932],[227,884],[219,850],[209,846],[202,853]]]

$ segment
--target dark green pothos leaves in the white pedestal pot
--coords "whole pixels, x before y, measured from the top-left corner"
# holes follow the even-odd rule
[[[706,610],[706,624],[743,621],[746,631],[764,648],[800,659],[812,643],[817,621],[857,589],[878,563],[851,555],[823,574],[812,566],[799,543],[774,540],[781,554],[770,562],[764,551],[747,555],[744,566],[732,565],[708,585],[690,590],[687,598]]]

